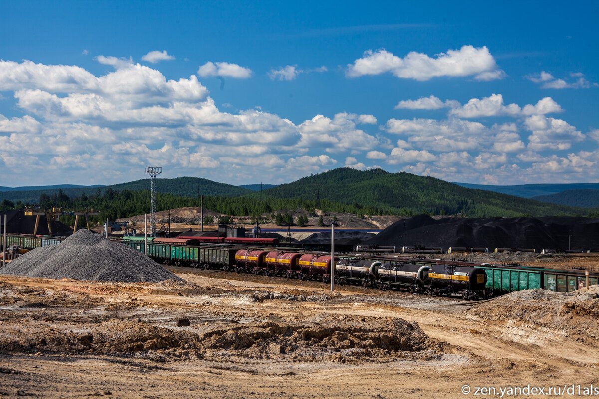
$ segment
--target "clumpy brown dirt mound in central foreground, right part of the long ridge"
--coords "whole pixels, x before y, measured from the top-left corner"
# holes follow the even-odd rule
[[[318,321],[316,321],[318,320]],[[202,337],[205,355],[234,351],[249,358],[351,361],[439,354],[440,344],[418,324],[396,318],[321,314],[298,322],[263,322],[210,331]]]

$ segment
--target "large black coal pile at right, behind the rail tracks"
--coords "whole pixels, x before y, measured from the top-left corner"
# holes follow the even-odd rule
[[[407,246],[494,248],[599,249],[599,219],[542,218],[442,218],[418,215],[400,220],[364,245],[403,246],[404,223]]]

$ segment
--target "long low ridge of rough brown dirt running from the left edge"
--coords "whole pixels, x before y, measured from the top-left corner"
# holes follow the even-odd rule
[[[44,305],[41,305],[43,307]],[[325,319],[329,319],[325,322]],[[46,319],[46,321],[49,321]],[[281,358],[299,361],[388,361],[434,358],[442,346],[403,319],[325,315],[322,322],[234,324],[206,333],[141,321],[86,322],[72,330],[26,321],[0,334],[0,353],[140,354],[167,358]]]

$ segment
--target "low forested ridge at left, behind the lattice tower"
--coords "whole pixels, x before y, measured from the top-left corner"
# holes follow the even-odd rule
[[[219,183],[196,177],[179,177],[174,179],[156,179],[157,191],[159,193],[169,193],[180,197],[197,197],[200,194],[212,197],[237,197],[247,193],[252,193],[252,190],[243,187],[237,187],[231,184]],[[61,188],[63,187],[63,188]],[[101,187],[85,187],[74,186],[48,186],[42,187],[39,190],[22,190],[22,191],[0,191],[0,202],[8,200],[11,202],[22,203],[40,203],[40,196],[55,196],[60,193],[66,194],[69,197],[78,197],[81,194],[87,196],[97,194],[98,191],[104,193],[107,190],[113,191],[146,191],[150,190],[150,179],[141,179],[127,183],[106,185]]]

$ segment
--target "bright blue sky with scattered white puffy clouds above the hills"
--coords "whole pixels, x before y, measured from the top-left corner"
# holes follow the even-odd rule
[[[0,185],[599,181],[596,2],[0,2]]]

